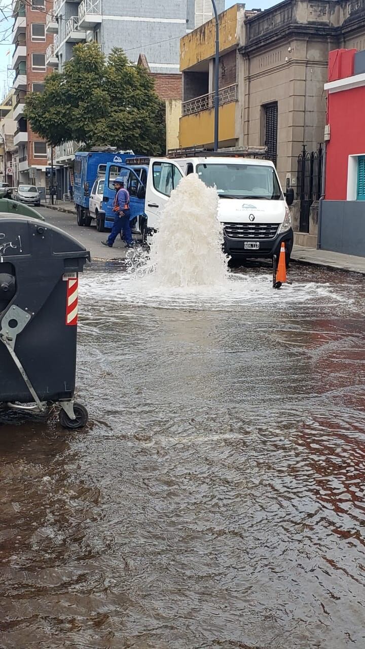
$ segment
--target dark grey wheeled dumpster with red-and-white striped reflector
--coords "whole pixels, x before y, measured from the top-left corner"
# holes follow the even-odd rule
[[[0,219],[0,402],[46,413],[81,428],[84,406],[73,400],[78,273],[90,252],[49,223],[14,215]]]

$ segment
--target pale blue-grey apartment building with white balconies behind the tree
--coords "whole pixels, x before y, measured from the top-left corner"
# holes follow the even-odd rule
[[[224,0],[217,5],[222,11]],[[177,74],[180,38],[211,17],[210,0],[54,0],[46,19],[53,35],[46,62],[61,71],[77,43],[96,42],[105,55],[121,47],[133,63],[144,55],[151,73]],[[68,167],[78,148],[67,142],[55,149],[55,164],[64,167],[61,194],[68,192]]]

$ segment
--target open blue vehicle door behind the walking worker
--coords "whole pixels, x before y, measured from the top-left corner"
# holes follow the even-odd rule
[[[124,186],[126,189],[132,185],[137,187],[141,185],[140,178],[128,165],[123,164],[107,164],[107,169],[105,173],[105,184],[104,184],[104,193],[103,193],[103,210],[105,211],[105,227],[112,228],[114,224],[115,212],[113,212],[113,202],[116,195],[116,190],[114,189],[114,180],[120,176],[124,180]],[[131,195],[131,219],[144,214],[144,198],[138,197],[138,190],[135,192],[136,195]]]

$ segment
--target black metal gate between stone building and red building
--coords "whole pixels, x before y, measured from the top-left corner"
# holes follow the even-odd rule
[[[321,197],[323,149],[303,149],[297,160],[297,200],[300,201],[299,232],[309,232],[309,210],[313,201]]]

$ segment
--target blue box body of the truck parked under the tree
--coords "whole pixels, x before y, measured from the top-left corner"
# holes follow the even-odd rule
[[[130,153],[99,153],[97,151],[82,151],[75,154],[75,169],[73,173],[73,201],[75,205],[88,209],[90,193],[97,177],[99,165],[122,163],[131,158]]]

